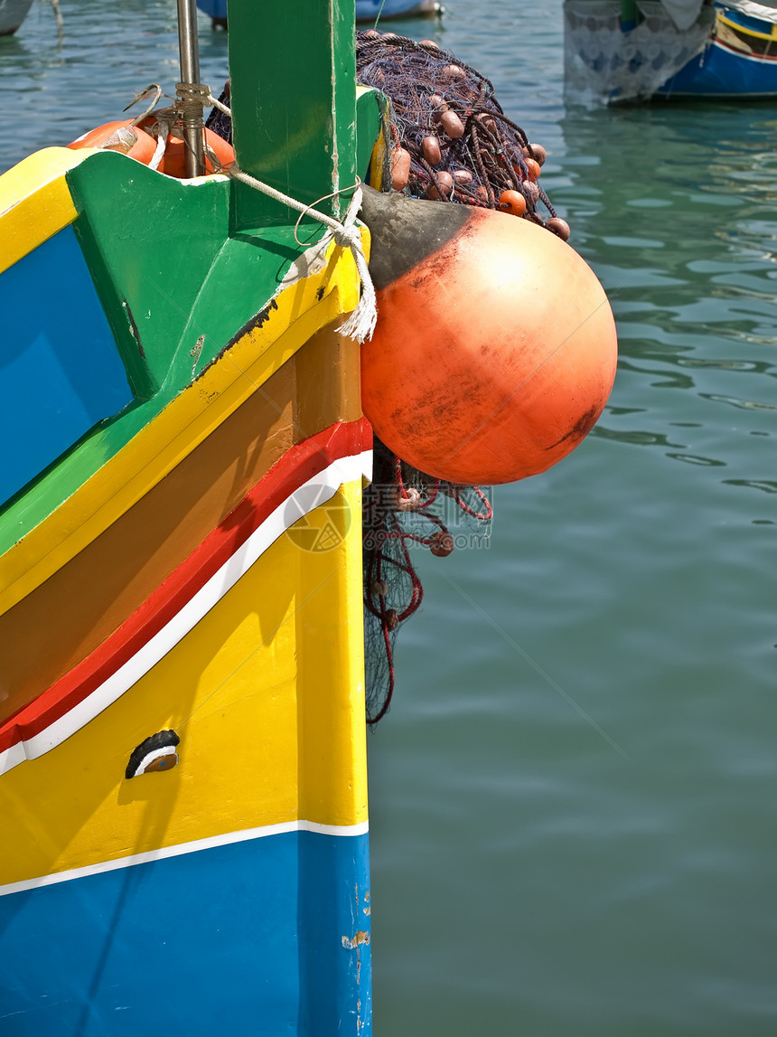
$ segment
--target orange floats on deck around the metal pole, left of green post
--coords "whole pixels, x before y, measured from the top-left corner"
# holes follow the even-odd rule
[[[123,155],[128,155],[131,159],[142,162],[144,166],[148,166],[156,150],[156,138],[149,133],[155,122],[156,118],[153,115],[149,115],[138,125],[135,125],[132,119],[123,122],[106,122],[104,125],[85,133],[66,146],[73,149],[97,147],[106,151],[120,151]],[[207,128],[203,134],[206,173],[218,172],[210,151],[215,156],[219,168],[228,166],[235,161],[234,148],[223,137]],[[186,179],[186,146],[173,133],[168,134],[165,153],[157,169],[168,176]]]

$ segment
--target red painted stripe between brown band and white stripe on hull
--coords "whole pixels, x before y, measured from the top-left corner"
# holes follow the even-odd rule
[[[291,447],[237,507],[90,655],[0,727],[0,752],[46,730],[157,634],[279,505],[333,461],[369,449],[366,418],[339,422]]]

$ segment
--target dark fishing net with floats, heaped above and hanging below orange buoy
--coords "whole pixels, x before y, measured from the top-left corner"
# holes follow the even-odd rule
[[[373,186],[501,209],[566,241],[569,226],[538,184],[545,149],[505,114],[485,76],[430,40],[375,30],[356,33],[356,75],[386,99],[387,146],[373,156]],[[228,103],[228,87],[221,100]],[[207,125],[231,142],[231,121],[218,109]],[[376,440],[363,529],[368,724],[390,708],[397,634],[424,598],[413,553],[444,558],[483,546],[491,517],[483,488],[419,472]]]

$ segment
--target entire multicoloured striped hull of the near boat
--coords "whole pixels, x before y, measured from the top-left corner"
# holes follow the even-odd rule
[[[111,151],[0,213],[3,1034],[369,1034],[352,255]]]

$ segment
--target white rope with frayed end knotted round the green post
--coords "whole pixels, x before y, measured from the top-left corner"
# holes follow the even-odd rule
[[[225,115],[232,116],[230,109],[217,101],[212,95],[208,95],[205,101],[209,105],[214,105]],[[335,194],[342,192],[335,191],[332,195],[324,195],[324,198],[318,198],[312,205],[306,205],[304,202],[297,201],[296,198],[284,194],[283,191],[271,188],[269,184],[264,184],[262,180],[257,180],[248,173],[243,173],[235,165],[225,168],[223,171],[228,176],[232,176],[236,180],[240,180],[242,184],[254,188],[255,191],[261,191],[262,194],[267,195],[269,198],[275,198],[282,205],[288,205],[289,208],[295,209],[300,214],[299,220],[306,216],[312,216],[314,220],[323,223],[328,228],[328,231],[319,244],[324,244],[327,239],[333,239],[341,248],[351,250],[353,261],[356,264],[356,272],[362,281],[362,298],[345,324],[341,325],[337,330],[347,338],[355,338],[357,342],[364,342],[366,339],[372,338],[372,333],[375,331],[375,325],[378,319],[375,287],[372,283],[370,271],[367,267],[367,258],[362,247],[362,234],[358,227],[355,226],[356,216],[362,207],[362,181],[356,180],[351,203],[341,223],[339,220],[334,219],[334,217],[326,216],[325,213],[319,213],[313,206],[317,205],[319,201],[324,201],[325,198],[332,198]],[[346,190],[350,191],[351,188],[347,188]],[[299,220],[297,220],[297,226],[299,225]],[[294,228],[294,237],[296,237],[296,228]]]

